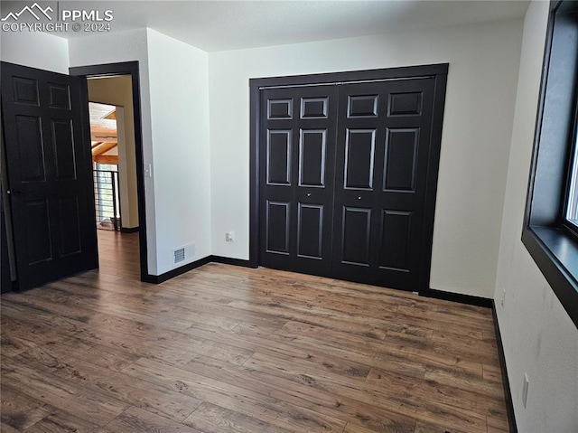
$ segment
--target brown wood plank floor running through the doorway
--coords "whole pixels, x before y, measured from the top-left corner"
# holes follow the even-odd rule
[[[489,309],[209,264],[100,270],[2,296],[2,432],[508,431]]]

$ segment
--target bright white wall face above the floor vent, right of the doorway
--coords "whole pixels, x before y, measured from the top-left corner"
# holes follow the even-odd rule
[[[209,66],[207,53],[147,29],[158,272],[191,243],[210,255]],[[182,264],[182,263],[181,263]]]

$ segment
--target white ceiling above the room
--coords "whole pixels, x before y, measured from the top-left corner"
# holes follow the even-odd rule
[[[32,2],[15,2],[30,5]],[[528,0],[60,1],[63,9],[114,12],[112,32],[150,27],[207,52],[322,41],[390,31],[507,20]],[[2,15],[16,8],[1,2]],[[94,34],[94,33],[92,33]],[[87,33],[60,33],[67,39]]]

